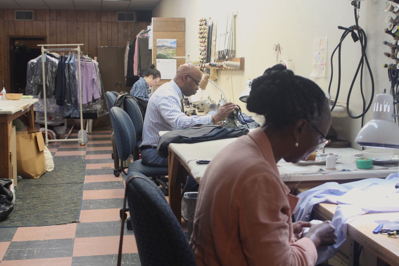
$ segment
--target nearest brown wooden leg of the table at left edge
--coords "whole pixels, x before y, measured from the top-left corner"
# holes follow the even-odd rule
[[[1,178],[12,178],[11,177],[11,162],[10,162],[10,133],[11,133],[12,121],[4,124],[0,124],[0,177]]]

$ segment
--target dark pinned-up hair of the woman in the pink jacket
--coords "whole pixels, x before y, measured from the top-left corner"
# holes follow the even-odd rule
[[[278,64],[252,81],[248,111],[264,115],[265,126],[282,129],[305,119],[318,125],[328,113],[328,98],[310,79]]]

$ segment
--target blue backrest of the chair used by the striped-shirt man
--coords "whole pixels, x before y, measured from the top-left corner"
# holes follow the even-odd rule
[[[112,107],[109,111],[114,129],[115,144],[119,159],[125,161],[133,153],[136,146],[136,131],[128,114],[119,107]]]

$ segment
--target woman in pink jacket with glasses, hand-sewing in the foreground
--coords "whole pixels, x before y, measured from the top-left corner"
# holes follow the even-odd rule
[[[336,242],[335,228],[292,224],[298,199],[276,163],[304,160],[329,142],[328,99],[313,81],[276,65],[253,81],[247,109],[265,124],[220,151],[199,185],[190,243],[197,264],[314,265],[316,248]]]

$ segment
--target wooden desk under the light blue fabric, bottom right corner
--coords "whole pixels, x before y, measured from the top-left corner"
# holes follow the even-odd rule
[[[311,187],[298,188],[298,193]],[[332,220],[338,205],[319,203],[313,206],[318,220]],[[373,234],[377,227],[375,220],[398,220],[399,212],[363,214],[348,223],[347,241],[350,241],[350,265],[359,265],[359,245],[371,251],[379,260],[390,265],[399,265],[399,238],[390,238],[385,234]]]

